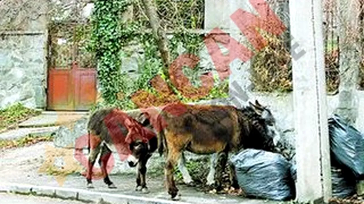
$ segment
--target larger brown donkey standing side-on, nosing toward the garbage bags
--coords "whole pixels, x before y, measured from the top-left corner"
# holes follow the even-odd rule
[[[162,109],[158,123],[160,128],[165,128],[157,134],[158,151],[161,155],[166,153],[165,177],[172,199],[178,192],[173,169],[184,150],[195,154],[218,153],[220,167],[226,166],[230,151],[242,148],[274,151],[274,141],[279,139],[279,133],[272,114],[258,101],[255,105],[249,104],[250,107],[238,109],[233,106],[176,103]],[[234,172],[231,165],[228,167],[230,172]],[[218,188],[222,184],[222,169],[217,171]],[[230,178],[236,181],[234,177]]]

